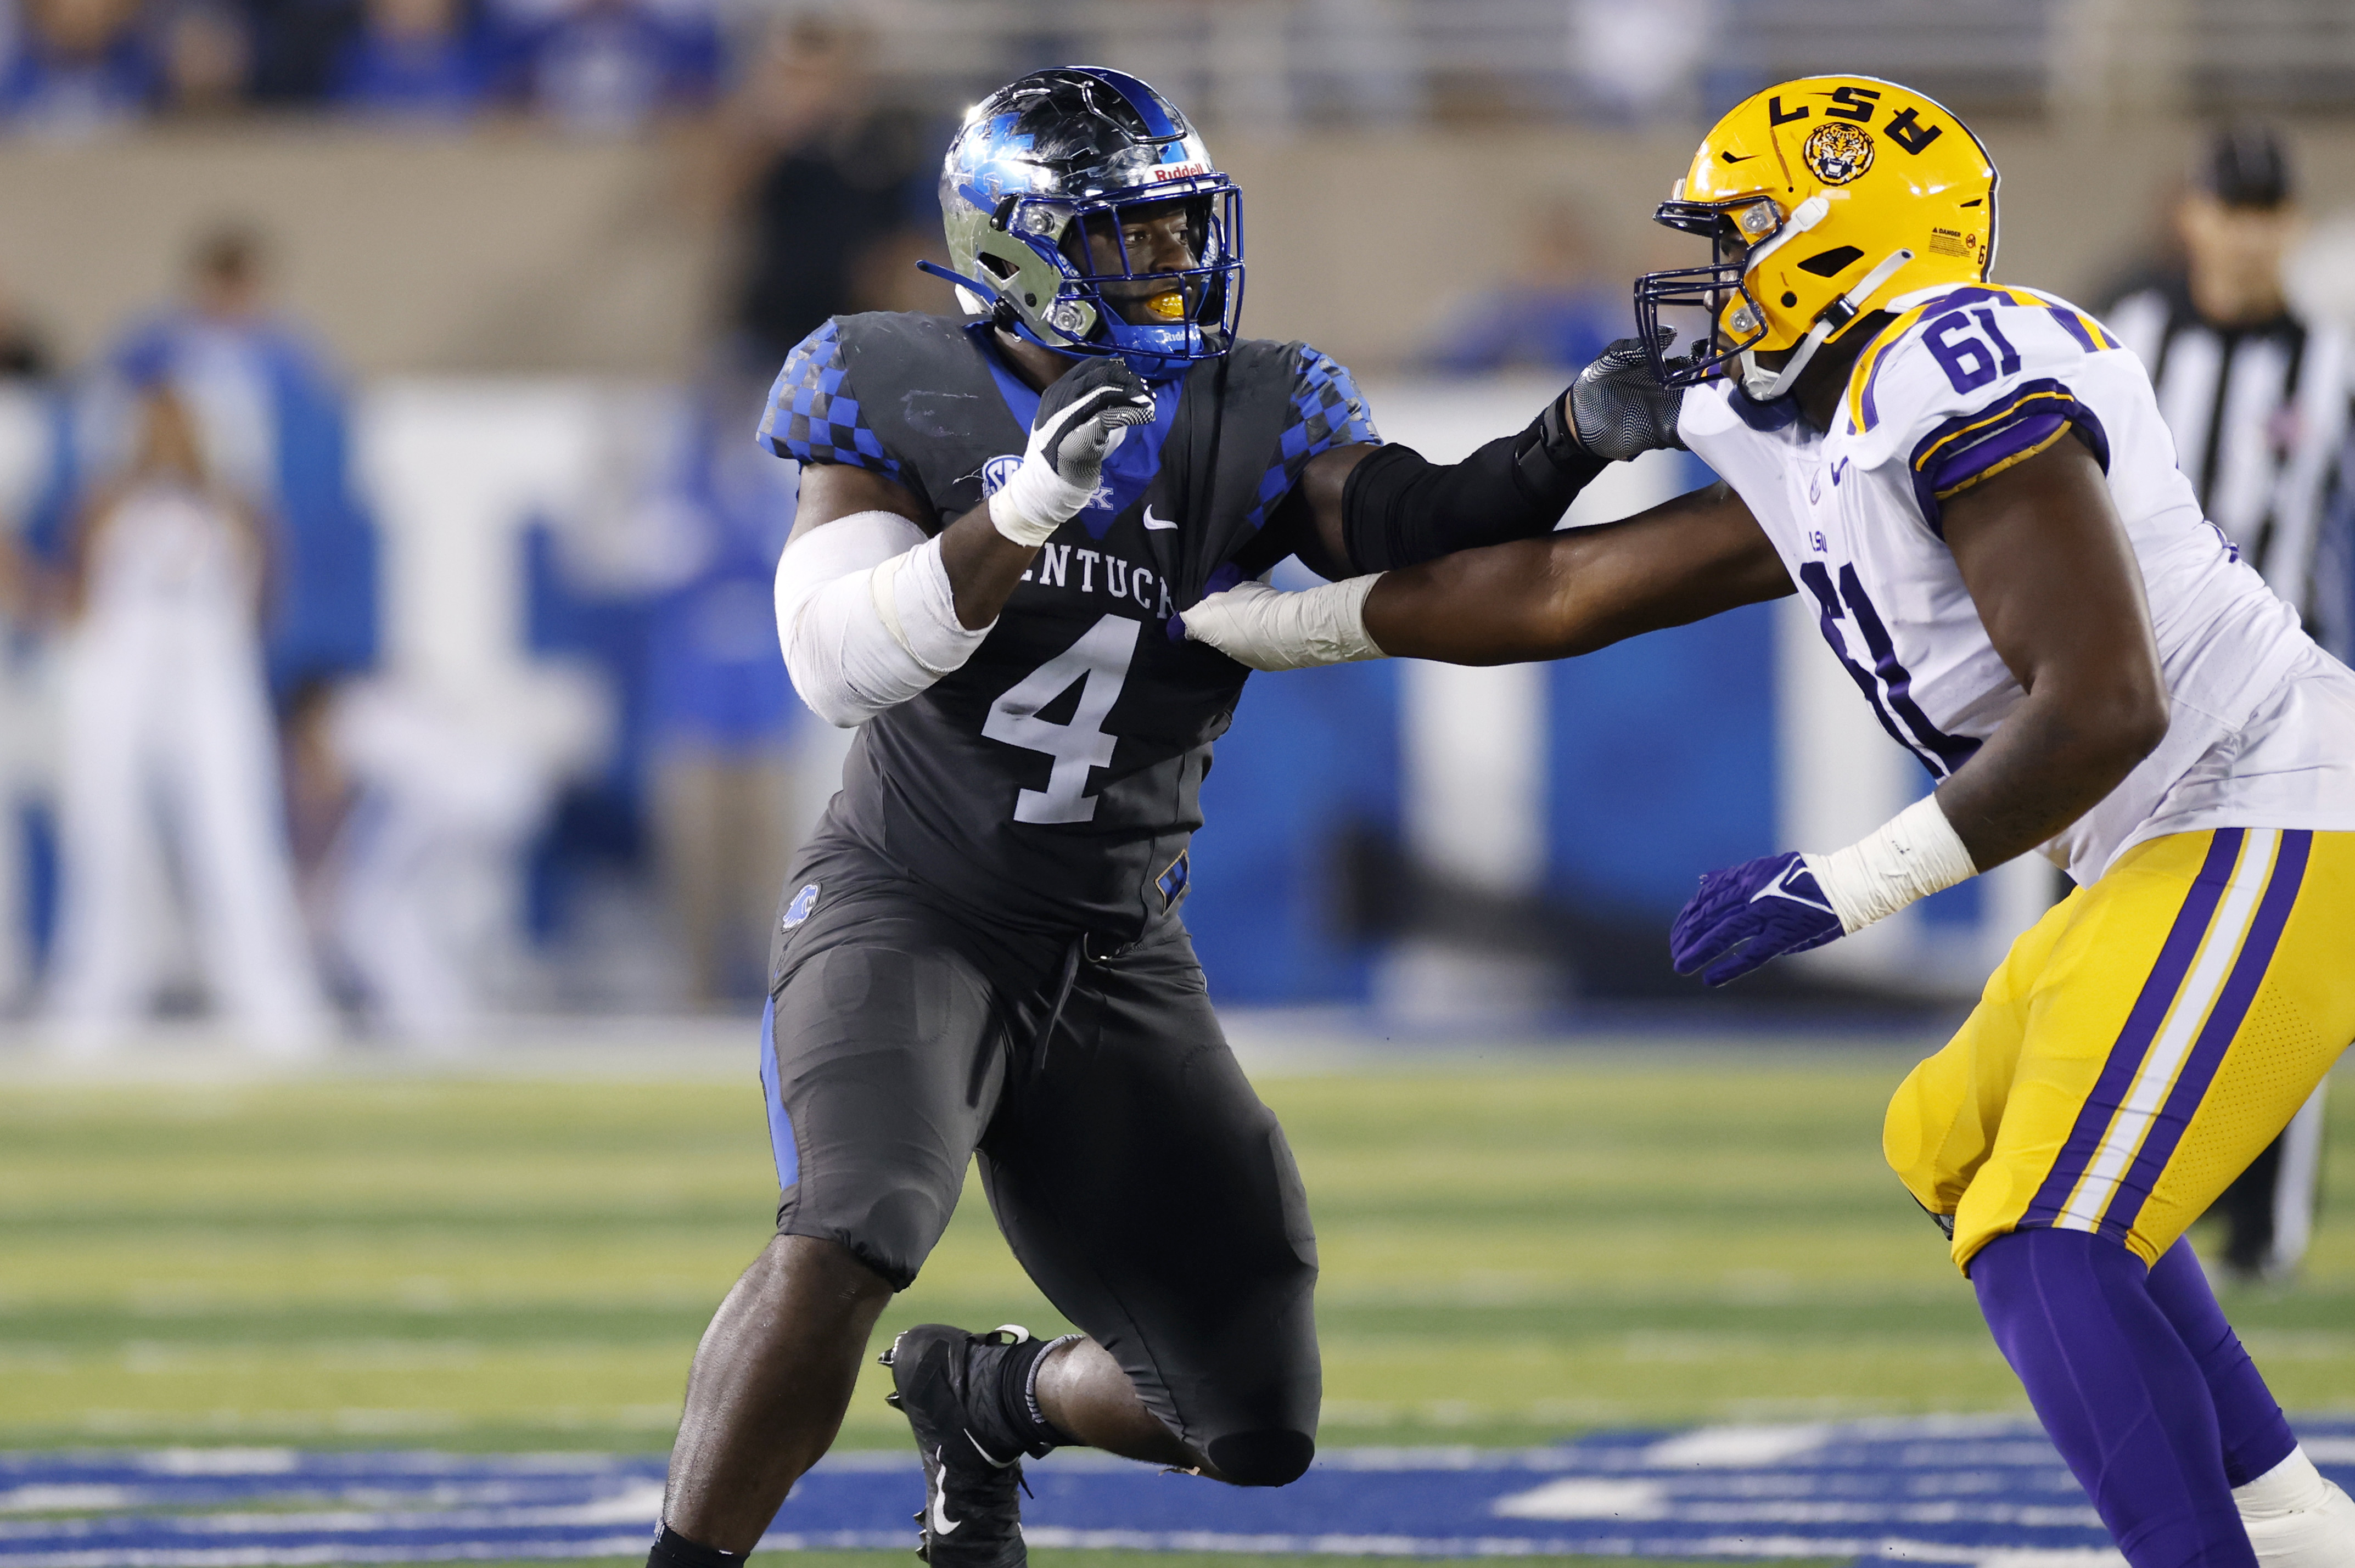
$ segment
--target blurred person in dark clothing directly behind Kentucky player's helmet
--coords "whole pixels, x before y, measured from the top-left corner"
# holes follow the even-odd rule
[[[937,245],[947,137],[874,104],[869,47],[843,21],[787,21],[728,108],[744,233],[735,315],[761,365],[782,363],[829,315],[904,308],[897,285],[921,278],[911,257]]]

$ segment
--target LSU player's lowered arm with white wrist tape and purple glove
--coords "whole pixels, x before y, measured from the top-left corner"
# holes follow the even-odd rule
[[[1726,984],[1999,866],[2089,812],[2167,735],[2143,574],[2075,440],[1945,501],[1988,640],[2028,697],[1938,793],[1830,855],[1712,871],[1670,928],[1677,970]]]

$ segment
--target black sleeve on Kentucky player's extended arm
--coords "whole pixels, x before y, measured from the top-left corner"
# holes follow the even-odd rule
[[[1552,532],[1606,466],[1571,436],[1561,398],[1519,436],[1500,436],[1453,466],[1425,461],[1413,447],[1380,447],[1340,492],[1349,565],[1387,572]]]

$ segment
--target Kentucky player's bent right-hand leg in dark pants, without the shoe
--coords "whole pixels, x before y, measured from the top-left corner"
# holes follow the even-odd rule
[[[1081,968],[982,1142],[982,1182],[1015,1257],[1090,1335],[1041,1373],[1057,1429],[1236,1486],[1307,1469],[1324,1391],[1307,1194],[1182,930]]]

